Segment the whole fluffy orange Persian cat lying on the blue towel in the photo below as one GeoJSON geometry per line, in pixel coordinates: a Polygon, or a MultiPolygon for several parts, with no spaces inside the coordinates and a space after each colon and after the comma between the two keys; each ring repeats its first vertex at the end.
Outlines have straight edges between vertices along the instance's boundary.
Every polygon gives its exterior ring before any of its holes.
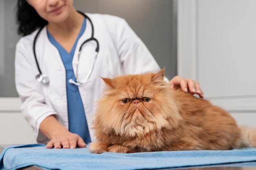
{"type": "Polygon", "coordinates": [[[158,73],[102,78],[92,153],[230,150],[256,147],[256,128],[238,127],[229,113],[164,81],[158,73]]]}

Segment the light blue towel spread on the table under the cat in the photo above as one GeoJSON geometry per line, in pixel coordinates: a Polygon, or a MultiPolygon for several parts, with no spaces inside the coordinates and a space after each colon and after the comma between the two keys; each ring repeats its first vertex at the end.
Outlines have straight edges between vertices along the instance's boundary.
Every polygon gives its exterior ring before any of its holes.
{"type": "Polygon", "coordinates": [[[43,144],[31,144],[5,148],[0,170],[31,165],[60,170],[142,170],[238,162],[256,166],[252,161],[256,161],[256,148],[92,154],[88,148],[46,149],[43,144]]]}

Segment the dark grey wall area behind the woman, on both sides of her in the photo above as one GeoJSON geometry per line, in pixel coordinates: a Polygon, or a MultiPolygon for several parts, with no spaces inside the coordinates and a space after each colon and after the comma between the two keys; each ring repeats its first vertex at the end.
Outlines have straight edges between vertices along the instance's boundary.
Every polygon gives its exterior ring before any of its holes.
{"type": "MultiPolygon", "coordinates": [[[[124,18],[146,44],[166,77],[177,74],[175,0],[74,0],[77,10],[124,18]],[[174,9],[174,10],[173,10],[174,9]]],[[[17,97],[14,84],[16,0],[0,0],[0,97],[17,97]]]]}

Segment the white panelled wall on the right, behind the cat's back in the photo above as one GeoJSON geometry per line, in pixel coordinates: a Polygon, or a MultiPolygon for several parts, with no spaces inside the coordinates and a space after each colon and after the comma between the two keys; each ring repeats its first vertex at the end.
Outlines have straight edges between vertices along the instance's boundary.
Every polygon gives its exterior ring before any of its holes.
{"type": "Polygon", "coordinates": [[[256,127],[256,1],[178,1],[178,74],[238,124],[256,127]]]}

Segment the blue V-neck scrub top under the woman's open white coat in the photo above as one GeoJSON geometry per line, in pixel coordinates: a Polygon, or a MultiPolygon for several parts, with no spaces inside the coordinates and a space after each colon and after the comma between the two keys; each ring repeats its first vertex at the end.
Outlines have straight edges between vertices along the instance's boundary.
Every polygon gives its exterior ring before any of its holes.
{"type": "Polygon", "coordinates": [[[67,112],[68,112],[68,123],[69,123],[69,131],[72,133],[76,133],[85,141],[85,144],[91,142],[90,134],[88,130],[88,125],[85,117],[85,111],[83,108],[82,99],[79,93],[78,86],[74,84],[70,84],[68,82],[69,79],[75,80],[75,75],[72,67],[72,60],[73,55],[76,49],[76,44],[85,31],[86,27],[86,20],[84,18],[83,25],[81,27],[80,33],[76,38],[76,42],[70,53],[68,53],[54,38],[53,36],[47,31],[48,38],[50,42],[56,46],[58,49],[63,64],[66,69],[66,87],[67,87],[67,112]]]}

